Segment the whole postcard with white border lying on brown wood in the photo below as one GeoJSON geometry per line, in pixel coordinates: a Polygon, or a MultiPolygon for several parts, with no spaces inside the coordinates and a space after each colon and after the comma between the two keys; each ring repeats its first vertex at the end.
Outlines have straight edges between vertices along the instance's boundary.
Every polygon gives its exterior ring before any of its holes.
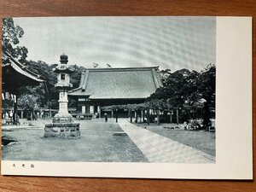
{"type": "Polygon", "coordinates": [[[3,175],[253,179],[252,18],[3,18],[3,175]]]}

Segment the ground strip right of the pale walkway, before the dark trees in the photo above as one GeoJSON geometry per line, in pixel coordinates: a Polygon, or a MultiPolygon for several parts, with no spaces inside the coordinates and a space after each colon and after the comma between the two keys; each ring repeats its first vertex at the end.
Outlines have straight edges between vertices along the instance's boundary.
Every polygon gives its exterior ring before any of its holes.
{"type": "Polygon", "coordinates": [[[200,149],[207,154],[216,156],[215,149],[215,133],[208,131],[186,131],[181,129],[165,129],[164,127],[175,127],[177,125],[161,124],[161,125],[147,125],[137,124],[143,128],[153,131],[161,136],[171,138],[174,141],[183,143],[192,148],[200,149]]]}

